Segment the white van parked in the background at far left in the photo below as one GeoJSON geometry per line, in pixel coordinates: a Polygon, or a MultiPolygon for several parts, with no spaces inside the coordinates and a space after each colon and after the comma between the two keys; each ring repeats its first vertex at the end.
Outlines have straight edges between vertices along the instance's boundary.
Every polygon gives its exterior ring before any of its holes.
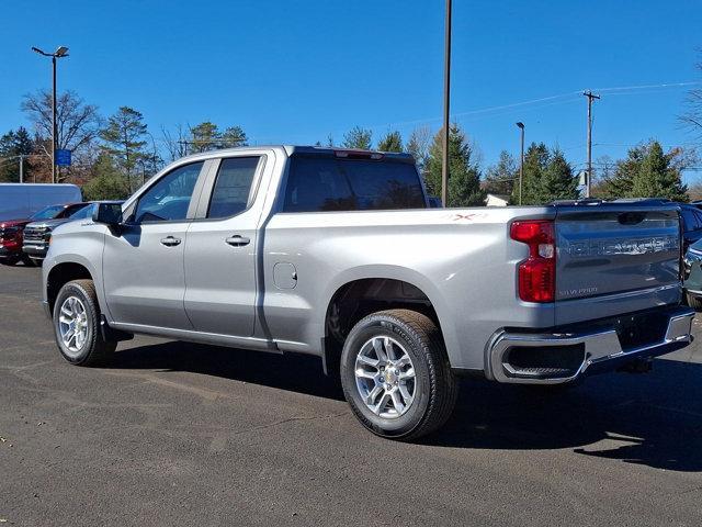
{"type": "Polygon", "coordinates": [[[75,184],[0,183],[0,221],[29,217],[46,205],[81,201],[75,184]]]}

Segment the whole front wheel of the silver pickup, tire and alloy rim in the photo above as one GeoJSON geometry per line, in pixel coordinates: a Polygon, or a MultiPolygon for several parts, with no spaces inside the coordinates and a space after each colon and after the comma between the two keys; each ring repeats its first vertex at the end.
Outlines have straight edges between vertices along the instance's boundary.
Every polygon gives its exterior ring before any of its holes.
{"type": "Polygon", "coordinates": [[[66,360],[78,366],[107,362],[117,343],[100,332],[100,306],[92,280],[73,280],[58,292],[54,304],[56,344],[66,360]]]}

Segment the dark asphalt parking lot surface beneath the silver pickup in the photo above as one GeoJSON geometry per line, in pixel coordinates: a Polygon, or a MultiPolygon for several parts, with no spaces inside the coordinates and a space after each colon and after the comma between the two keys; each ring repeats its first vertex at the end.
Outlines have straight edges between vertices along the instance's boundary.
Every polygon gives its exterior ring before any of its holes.
{"type": "Polygon", "coordinates": [[[71,367],[38,281],[0,267],[8,525],[702,523],[699,344],[563,393],[464,380],[442,431],[398,444],[308,357],[138,337],[71,367]]]}

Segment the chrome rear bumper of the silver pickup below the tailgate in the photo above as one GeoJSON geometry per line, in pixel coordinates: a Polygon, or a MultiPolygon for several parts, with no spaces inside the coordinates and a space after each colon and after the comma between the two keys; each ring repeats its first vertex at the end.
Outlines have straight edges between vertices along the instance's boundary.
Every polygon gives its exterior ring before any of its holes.
{"type": "Polygon", "coordinates": [[[694,311],[676,306],[659,316],[667,318],[663,321],[666,323],[661,325],[660,334],[650,341],[634,346],[622,345],[621,329],[618,333],[614,321],[610,327],[600,322],[592,332],[521,333],[502,329],[487,346],[486,375],[503,383],[561,384],[637,358],[669,354],[692,341],[690,330],[694,311]],[[521,358],[516,361],[514,356],[521,358]],[[533,363],[529,365],[529,360],[533,363]],[[555,363],[559,360],[561,363],[555,363]]]}

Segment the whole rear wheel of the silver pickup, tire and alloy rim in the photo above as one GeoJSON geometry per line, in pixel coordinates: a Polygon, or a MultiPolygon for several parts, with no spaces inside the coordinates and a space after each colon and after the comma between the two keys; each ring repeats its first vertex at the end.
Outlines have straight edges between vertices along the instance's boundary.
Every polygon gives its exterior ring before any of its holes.
{"type": "Polygon", "coordinates": [[[373,313],[351,329],[341,354],[341,384],[363,426],[401,440],[440,428],[458,393],[441,333],[409,310],[373,313]]]}

